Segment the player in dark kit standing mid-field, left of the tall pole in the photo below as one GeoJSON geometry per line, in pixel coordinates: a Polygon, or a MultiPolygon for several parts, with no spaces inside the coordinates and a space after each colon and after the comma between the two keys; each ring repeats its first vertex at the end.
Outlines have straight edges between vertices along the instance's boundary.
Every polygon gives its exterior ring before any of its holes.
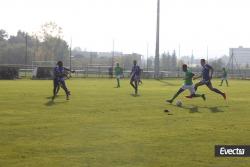
{"type": "Polygon", "coordinates": [[[137,65],[136,60],[134,60],[134,66],[132,67],[131,73],[130,73],[130,85],[134,88],[135,90],[135,95],[138,93],[138,84],[141,75],[141,69],[140,66],[137,65]]]}

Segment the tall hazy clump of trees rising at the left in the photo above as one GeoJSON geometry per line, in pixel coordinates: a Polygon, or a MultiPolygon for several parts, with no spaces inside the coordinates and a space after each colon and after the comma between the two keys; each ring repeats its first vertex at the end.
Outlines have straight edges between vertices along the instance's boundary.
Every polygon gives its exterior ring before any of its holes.
{"type": "Polygon", "coordinates": [[[53,22],[45,23],[35,34],[18,30],[16,35],[0,30],[0,64],[32,65],[35,61],[69,62],[69,46],[62,30],[53,22]]]}

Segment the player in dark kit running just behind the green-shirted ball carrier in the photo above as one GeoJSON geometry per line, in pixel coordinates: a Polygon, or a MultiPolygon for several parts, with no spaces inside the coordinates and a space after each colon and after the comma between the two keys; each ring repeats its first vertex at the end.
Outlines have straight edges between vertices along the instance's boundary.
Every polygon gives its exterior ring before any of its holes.
{"type": "Polygon", "coordinates": [[[221,92],[220,90],[214,88],[213,85],[212,85],[211,79],[213,77],[213,72],[214,72],[213,67],[210,66],[209,64],[206,64],[205,59],[201,59],[201,66],[202,66],[202,74],[200,76],[198,76],[198,77],[194,77],[194,79],[202,77],[202,80],[195,84],[195,87],[194,87],[195,91],[197,90],[197,88],[199,86],[207,85],[207,87],[211,91],[220,94],[226,100],[226,94],[221,92]]]}

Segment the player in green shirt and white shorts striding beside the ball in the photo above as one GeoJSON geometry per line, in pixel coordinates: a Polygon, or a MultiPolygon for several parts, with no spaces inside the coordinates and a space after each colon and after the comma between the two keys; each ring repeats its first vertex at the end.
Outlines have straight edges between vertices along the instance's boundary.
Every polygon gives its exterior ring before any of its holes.
{"type": "Polygon", "coordinates": [[[193,77],[194,74],[188,69],[186,64],[182,65],[182,70],[185,73],[184,77],[184,85],[178,90],[178,92],[172,97],[170,100],[166,100],[169,103],[173,103],[174,99],[178,97],[182,92],[184,92],[186,89],[190,91],[190,96],[186,96],[188,98],[193,98],[193,97],[201,97],[204,101],[206,100],[205,94],[195,94],[195,89],[193,85],[193,77]]]}

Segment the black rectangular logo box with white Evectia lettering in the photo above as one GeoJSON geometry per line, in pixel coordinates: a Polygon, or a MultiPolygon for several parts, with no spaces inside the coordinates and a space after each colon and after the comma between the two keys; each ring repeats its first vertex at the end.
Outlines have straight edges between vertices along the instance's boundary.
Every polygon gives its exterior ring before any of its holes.
{"type": "Polygon", "coordinates": [[[216,157],[249,157],[250,146],[237,145],[216,145],[216,157]]]}

